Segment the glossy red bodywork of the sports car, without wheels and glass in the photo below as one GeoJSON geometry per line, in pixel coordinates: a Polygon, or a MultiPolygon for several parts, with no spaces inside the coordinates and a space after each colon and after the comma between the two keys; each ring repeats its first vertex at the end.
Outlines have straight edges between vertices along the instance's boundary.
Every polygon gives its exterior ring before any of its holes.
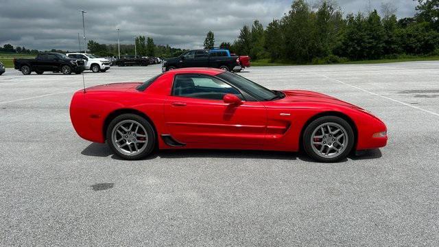
{"type": "Polygon", "coordinates": [[[171,95],[174,75],[202,73],[217,75],[219,69],[176,69],[163,73],[145,89],[141,82],[93,86],[73,95],[70,115],[76,132],[88,141],[105,142],[108,120],[119,113],[138,113],[149,119],[161,149],[215,148],[297,151],[300,137],[311,119],[340,115],[354,126],[356,150],[380,148],[387,136],[385,124],[352,104],[311,91],[283,91],[286,97],[269,102],[242,102],[236,106],[221,100],[171,95]],[[167,145],[161,134],[186,145],[167,145]]]}

